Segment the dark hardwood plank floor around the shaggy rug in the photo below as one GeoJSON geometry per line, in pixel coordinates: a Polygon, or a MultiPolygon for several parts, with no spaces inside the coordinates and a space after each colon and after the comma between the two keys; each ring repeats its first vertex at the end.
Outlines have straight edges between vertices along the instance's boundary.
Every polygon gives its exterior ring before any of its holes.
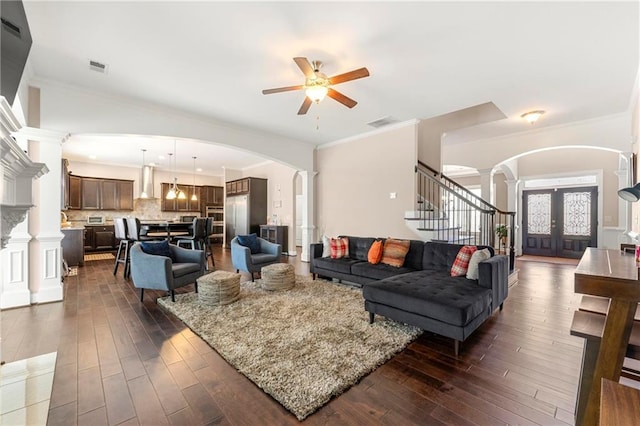
{"type": "MultiPolygon", "coordinates": [[[[233,270],[217,249],[218,269],[233,270]]],[[[289,258],[298,274],[308,264],[289,258]]],[[[575,266],[517,262],[504,310],[461,345],[423,334],[308,424],[573,424],[582,340],[575,266]]],[[[113,261],[65,279],[65,300],[2,311],[5,361],[58,351],[50,425],[295,424],[180,320],[144,303],[113,261]]],[[[244,275],[248,279],[248,275],[244,275]]],[[[193,291],[192,286],[185,291],[193,291]]],[[[364,311],[363,311],[364,315],[364,311]]]]}

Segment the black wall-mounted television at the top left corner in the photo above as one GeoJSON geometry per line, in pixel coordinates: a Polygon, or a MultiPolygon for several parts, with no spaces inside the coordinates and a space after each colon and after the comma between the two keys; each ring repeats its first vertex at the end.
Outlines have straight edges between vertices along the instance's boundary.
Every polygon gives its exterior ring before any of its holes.
{"type": "Polygon", "coordinates": [[[0,18],[0,95],[13,105],[31,49],[31,32],[22,1],[0,1],[0,18]]]}

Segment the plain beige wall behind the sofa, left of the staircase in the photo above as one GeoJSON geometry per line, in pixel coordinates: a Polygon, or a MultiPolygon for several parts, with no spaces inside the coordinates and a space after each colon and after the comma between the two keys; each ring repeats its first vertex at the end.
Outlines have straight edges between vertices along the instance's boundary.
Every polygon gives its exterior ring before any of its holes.
{"type": "Polygon", "coordinates": [[[415,208],[416,133],[411,124],[318,150],[319,235],[415,238],[404,215],[415,208]]]}

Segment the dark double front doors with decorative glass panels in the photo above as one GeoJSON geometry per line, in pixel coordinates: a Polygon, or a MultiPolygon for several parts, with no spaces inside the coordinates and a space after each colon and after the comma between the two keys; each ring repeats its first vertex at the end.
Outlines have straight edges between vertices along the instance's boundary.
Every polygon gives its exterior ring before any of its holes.
{"type": "Polygon", "coordinates": [[[598,245],[598,188],[523,191],[522,252],[579,259],[598,245]]]}

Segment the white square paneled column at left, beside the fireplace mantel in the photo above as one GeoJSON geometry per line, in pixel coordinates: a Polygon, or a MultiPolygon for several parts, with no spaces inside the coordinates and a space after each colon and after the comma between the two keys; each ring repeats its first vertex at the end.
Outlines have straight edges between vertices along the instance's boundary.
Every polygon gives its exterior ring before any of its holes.
{"type": "Polygon", "coordinates": [[[46,164],[50,173],[34,183],[35,207],[29,218],[29,290],[31,303],[60,301],[62,288],[62,249],[60,242],[60,200],[62,197],[62,143],[67,133],[24,127],[14,134],[28,141],[29,155],[46,164]]]}

